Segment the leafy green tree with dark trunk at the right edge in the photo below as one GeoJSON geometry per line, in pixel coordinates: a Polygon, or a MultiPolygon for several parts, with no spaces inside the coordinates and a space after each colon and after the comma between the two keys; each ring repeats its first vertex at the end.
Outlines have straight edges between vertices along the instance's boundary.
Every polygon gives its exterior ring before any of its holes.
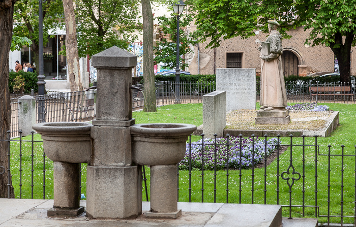
{"type": "Polygon", "coordinates": [[[356,44],[356,1],[295,1],[298,22],[310,29],[307,43],[330,47],[338,59],[341,82],[350,82],[351,47],[356,44]]]}

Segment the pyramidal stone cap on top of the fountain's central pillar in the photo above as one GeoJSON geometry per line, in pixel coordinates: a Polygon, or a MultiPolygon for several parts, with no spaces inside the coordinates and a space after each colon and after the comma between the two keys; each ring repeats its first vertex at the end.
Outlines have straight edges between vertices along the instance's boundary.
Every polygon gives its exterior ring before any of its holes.
{"type": "Polygon", "coordinates": [[[136,64],[136,55],[116,46],[92,56],[92,66],[94,68],[131,68],[136,64]]]}

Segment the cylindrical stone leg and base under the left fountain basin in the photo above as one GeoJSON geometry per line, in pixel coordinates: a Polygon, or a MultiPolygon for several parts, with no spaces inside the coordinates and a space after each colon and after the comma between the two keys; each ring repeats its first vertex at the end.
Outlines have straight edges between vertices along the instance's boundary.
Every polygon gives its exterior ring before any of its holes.
{"type": "Polygon", "coordinates": [[[80,163],[53,162],[53,209],[48,216],[77,216],[84,212],[80,201],[80,163]]]}

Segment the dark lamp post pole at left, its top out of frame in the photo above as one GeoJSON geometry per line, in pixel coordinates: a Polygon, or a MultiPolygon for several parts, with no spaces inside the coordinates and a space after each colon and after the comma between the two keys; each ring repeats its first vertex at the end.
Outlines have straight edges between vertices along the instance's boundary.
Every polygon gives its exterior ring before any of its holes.
{"type": "MultiPolygon", "coordinates": [[[[43,73],[43,15],[42,15],[42,3],[43,0],[39,0],[38,6],[38,94],[45,94],[45,76],[43,73]]],[[[44,107],[44,98],[40,96],[38,104],[38,117],[39,122],[45,122],[45,107],[44,107]],[[43,100],[43,101],[42,101],[43,100]]]]}

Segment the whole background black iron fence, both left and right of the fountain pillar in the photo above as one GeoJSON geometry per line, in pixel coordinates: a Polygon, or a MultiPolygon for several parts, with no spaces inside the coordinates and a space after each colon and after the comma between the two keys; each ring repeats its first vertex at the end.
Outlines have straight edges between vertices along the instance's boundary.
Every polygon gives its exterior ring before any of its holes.
{"type": "MultiPolygon", "coordinates": [[[[135,85],[143,89],[143,84],[135,85]]],[[[201,83],[180,81],[181,103],[202,103],[204,94],[215,91],[215,82],[201,83]]],[[[297,81],[286,83],[287,100],[289,103],[347,103],[355,104],[356,82],[347,84],[318,83],[297,81]]],[[[155,82],[156,105],[176,103],[174,92],[175,81],[155,82]]],[[[256,82],[256,100],[259,101],[260,83],[256,82]]],[[[37,122],[52,121],[88,121],[95,118],[94,90],[77,92],[49,91],[46,95],[36,98],[37,122]]],[[[143,93],[132,91],[133,111],[144,107],[143,93]]],[[[18,99],[11,99],[12,121],[11,137],[18,136],[18,99]]]]}

